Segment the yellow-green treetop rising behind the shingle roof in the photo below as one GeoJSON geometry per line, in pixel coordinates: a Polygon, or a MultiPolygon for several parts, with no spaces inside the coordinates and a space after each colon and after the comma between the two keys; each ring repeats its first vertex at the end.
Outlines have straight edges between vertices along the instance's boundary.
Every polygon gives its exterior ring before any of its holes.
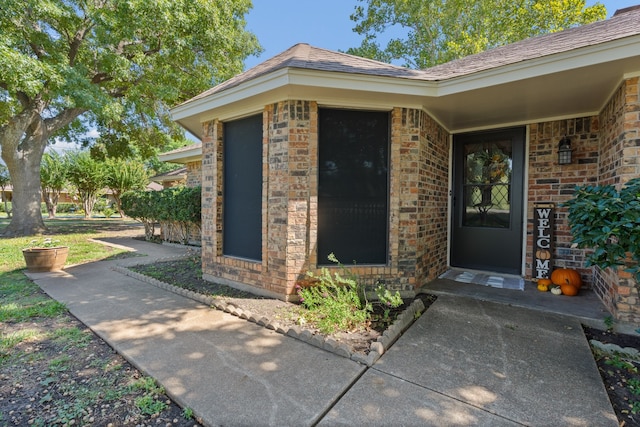
{"type": "Polygon", "coordinates": [[[433,65],[606,17],[585,0],[359,0],[351,19],[364,36],[348,53],[411,68],[433,65]],[[381,46],[385,30],[403,36],[381,46]]]}

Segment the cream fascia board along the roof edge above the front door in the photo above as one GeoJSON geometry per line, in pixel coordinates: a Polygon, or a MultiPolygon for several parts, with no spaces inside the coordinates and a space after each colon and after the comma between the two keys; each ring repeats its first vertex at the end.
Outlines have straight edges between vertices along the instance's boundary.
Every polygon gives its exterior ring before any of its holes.
{"type": "Polygon", "coordinates": [[[638,57],[640,36],[631,36],[560,54],[530,59],[478,73],[441,80],[437,96],[483,89],[543,75],[638,57]]]}

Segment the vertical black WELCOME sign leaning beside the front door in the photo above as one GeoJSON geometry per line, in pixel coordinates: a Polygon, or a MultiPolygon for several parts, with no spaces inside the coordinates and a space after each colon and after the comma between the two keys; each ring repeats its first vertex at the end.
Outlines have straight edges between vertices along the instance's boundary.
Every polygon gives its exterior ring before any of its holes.
{"type": "Polygon", "coordinates": [[[533,208],[533,277],[551,276],[553,254],[553,203],[537,204],[533,208]]]}

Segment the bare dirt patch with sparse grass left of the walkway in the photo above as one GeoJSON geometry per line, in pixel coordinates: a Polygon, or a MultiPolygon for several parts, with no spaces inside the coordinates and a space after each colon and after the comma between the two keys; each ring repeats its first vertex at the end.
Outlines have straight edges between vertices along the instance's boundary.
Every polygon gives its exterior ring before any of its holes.
{"type": "Polygon", "coordinates": [[[0,425],[198,425],[70,314],[0,329],[33,336],[0,352],[0,425]]]}

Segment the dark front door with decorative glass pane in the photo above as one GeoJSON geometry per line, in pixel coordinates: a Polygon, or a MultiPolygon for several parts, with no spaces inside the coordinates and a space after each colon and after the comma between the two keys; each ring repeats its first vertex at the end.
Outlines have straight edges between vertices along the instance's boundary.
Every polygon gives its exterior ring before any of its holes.
{"type": "Polygon", "coordinates": [[[453,139],[451,265],[520,274],[524,128],[453,139]]]}

